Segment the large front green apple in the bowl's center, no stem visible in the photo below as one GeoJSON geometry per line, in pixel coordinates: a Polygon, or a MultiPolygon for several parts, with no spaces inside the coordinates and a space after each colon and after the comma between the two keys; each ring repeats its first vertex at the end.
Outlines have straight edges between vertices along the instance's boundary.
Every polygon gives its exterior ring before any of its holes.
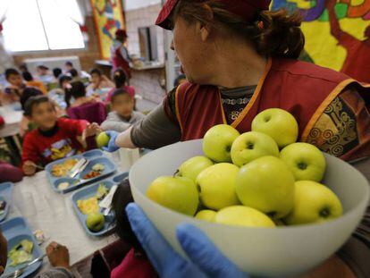
{"type": "Polygon", "coordinates": [[[240,168],[236,192],[244,206],[279,219],[293,208],[294,176],[281,159],[260,157],[240,168]]]}

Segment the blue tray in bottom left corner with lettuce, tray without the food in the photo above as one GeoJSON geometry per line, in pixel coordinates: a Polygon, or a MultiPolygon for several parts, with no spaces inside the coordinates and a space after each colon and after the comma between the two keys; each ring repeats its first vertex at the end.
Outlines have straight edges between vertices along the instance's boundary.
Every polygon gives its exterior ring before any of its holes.
{"type": "MultiPolygon", "coordinates": [[[[34,235],[29,229],[28,223],[23,217],[15,217],[5,221],[4,223],[0,223],[0,229],[3,231],[5,239],[8,240],[8,252],[13,249],[13,247],[21,240],[31,240],[33,242],[32,259],[41,257],[43,255],[42,250],[38,246],[38,241],[35,239],[34,235]]],[[[26,265],[27,263],[10,266],[10,261],[8,261],[8,265],[5,267],[4,276],[12,274],[14,271],[26,265]]],[[[23,278],[33,274],[41,265],[42,261],[30,265],[20,277],[23,278]]]]}

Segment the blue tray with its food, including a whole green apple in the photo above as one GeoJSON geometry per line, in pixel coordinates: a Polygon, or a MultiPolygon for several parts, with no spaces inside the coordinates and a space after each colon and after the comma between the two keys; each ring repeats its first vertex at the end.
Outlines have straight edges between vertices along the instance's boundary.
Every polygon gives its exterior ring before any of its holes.
{"type": "Polygon", "coordinates": [[[110,201],[117,184],[128,176],[129,173],[121,173],[111,179],[98,181],[71,196],[73,209],[88,235],[102,236],[114,230],[110,201]]]}

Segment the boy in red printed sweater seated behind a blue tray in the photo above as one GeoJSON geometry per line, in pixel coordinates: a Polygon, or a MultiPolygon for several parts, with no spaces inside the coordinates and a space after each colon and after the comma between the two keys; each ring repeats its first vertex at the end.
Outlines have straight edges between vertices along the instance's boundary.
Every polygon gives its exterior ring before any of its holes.
{"type": "Polygon", "coordinates": [[[26,175],[36,173],[38,165],[96,147],[88,122],[58,119],[54,102],[46,96],[30,97],[24,114],[38,127],[23,140],[22,169],[26,175]]]}

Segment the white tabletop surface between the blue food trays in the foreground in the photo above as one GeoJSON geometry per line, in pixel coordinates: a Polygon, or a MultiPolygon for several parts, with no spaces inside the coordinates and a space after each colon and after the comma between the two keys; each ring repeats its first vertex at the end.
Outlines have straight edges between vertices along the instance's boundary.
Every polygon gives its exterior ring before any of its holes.
{"type": "MultiPolygon", "coordinates": [[[[122,165],[117,158],[113,159],[117,164],[117,173],[126,172],[128,164],[122,165]]],[[[25,177],[13,187],[13,206],[7,217],[22,215],[32,231],[42,230],[46,238],[50,237],[41,246],[42,249],[53,240],[65,245],[70,250],[71,265],[117,240],[114,235],[96,238],[86,234],[71,206],[74,192],[56,193],[47,181],[45,171],[25,177]]],[[[49,267],[46,258],[40,272],[49,267]]]]}

